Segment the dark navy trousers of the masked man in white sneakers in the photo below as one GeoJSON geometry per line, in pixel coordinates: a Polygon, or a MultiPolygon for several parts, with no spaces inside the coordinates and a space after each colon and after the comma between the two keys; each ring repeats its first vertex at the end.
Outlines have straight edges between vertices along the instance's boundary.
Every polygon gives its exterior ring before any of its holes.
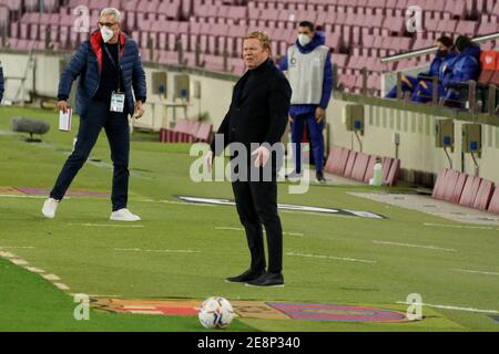
{"type": "Polygon", "coordinates": [[[68,157],[50,197],[61,200],[73,178],[89,158],[99,133],[104,128],[111,147],[113,162],[113,187],[111,201],[113,211],[126,208],[129,196],[130,128],[128,113],[109,111],[108,103],[92,101],[88,112],[80,118],[78,140],[73,153],[68,157]]]}

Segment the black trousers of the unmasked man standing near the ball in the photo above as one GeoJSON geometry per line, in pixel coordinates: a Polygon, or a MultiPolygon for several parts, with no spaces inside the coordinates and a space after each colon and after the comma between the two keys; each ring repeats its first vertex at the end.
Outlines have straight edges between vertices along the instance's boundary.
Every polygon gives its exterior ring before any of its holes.
{"type": "Polygon", "coordinates": [[[237,214],[246,231],[252,256],[251,269],[265,270],[263,228],[267,235],[268,272],[283,269],[283,229],[277,215],[276,181],[233,181],[237,214]]]}

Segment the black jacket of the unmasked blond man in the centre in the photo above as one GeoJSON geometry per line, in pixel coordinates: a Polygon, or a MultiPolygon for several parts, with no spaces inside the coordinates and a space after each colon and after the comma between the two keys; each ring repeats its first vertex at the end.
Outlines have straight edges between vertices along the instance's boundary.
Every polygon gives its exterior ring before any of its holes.
{"type": "Polygon", "coordinates": [[[220,155],[230,143],[243,143],[249,148],[251,143],[272,146],[281,142],[287,125],[291,97],[287,79],[272,60],[248,70],[237,81],[231,107],[217,132],[224,137],[224,146],[215,146],[213,139],[211,149],[220,155]],[[246,85],[248,75],[254,77],[246,85]]]}

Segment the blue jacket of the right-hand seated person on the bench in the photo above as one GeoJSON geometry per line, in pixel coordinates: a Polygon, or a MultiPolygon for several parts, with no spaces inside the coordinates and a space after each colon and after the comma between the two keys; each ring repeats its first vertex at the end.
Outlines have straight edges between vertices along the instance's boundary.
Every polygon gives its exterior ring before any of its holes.
{"type": "Polygon", "coordinates": [[[446,88],[451,88],[452,85],[469,80],[477,80],[480,75],[480,48],[478,45],[468,46],[456,58],[446,62],[442,74],[446,88]]]}

